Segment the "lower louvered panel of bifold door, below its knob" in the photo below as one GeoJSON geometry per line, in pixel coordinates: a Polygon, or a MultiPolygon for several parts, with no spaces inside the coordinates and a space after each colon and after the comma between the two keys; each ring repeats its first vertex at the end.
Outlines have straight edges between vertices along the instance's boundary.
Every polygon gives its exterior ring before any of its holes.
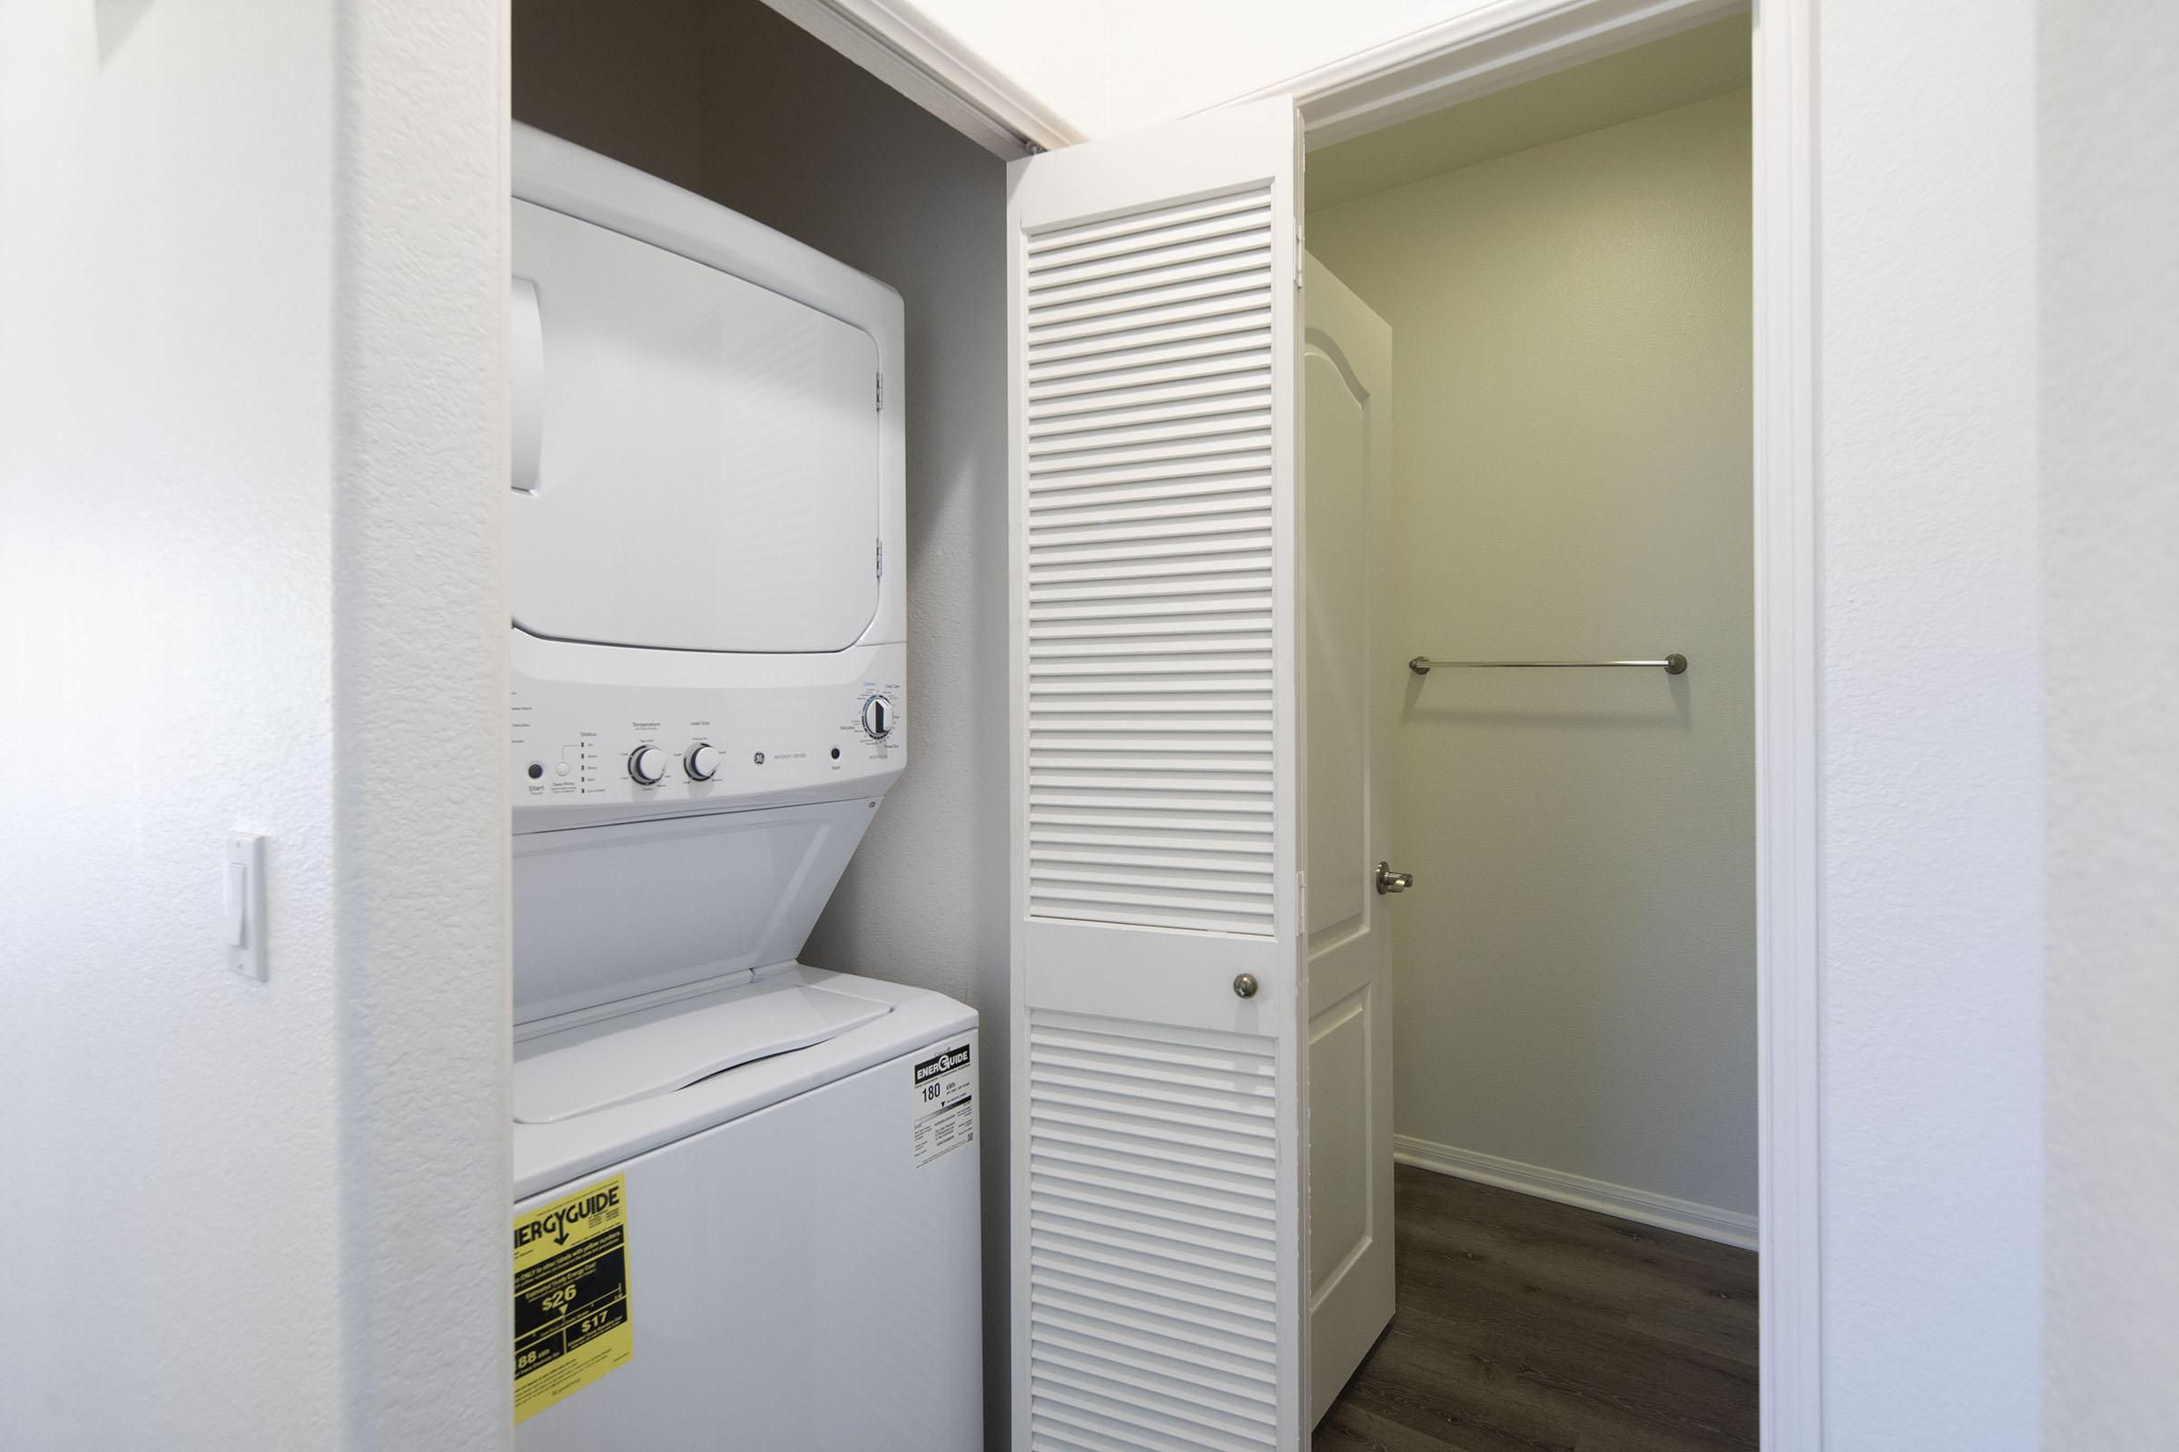
{"type": "Polygon", "coordinates": [[[1028,1014],[1031,1448],[1277,1445],[1277,1047],[1028,1014]]]}

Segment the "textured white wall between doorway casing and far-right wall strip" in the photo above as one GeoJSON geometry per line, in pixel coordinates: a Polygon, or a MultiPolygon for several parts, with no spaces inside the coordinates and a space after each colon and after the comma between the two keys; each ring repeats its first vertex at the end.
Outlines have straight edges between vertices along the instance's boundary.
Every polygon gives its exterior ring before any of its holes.
{"type": "Polygon", "coordinates": [[[1826,0],[1826,1445],[2037,1443],[2035,4],[1826,0]]]}

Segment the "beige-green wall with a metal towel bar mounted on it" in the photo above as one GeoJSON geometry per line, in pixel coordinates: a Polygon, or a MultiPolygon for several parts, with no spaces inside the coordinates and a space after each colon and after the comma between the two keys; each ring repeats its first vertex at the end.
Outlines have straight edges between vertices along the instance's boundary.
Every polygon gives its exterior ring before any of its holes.
{"type": "Polygon", "coordinates": [[[1756,1206],[1750,122],[1734,91],[1310,216],[1390,324],[1408,1147],[1756,1206]]]}

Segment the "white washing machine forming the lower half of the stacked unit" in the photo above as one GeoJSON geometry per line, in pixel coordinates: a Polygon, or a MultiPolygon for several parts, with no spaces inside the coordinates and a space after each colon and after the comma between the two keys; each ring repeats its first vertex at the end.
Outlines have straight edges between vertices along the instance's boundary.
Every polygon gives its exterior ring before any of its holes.
{"type": "MultiPolygon", "coordinates": [[[[514,1112],[564,1115],[516,1128],[516,1223],[619,1176],[632,1334],[625,1365],[525,1419],[516,1445],[981,1445],[974,1102],[959,1102],[983,1069],[976,1014],[804,967],[652,1012],[665,1017],[649,1045],[606,1021],[516,1049],[514,1112]],[[815,1047],[625,1097],[706,1054],[843,1023],[815,1047]],[[926,1097],[933,1084],[946,1093],[926,1097]]],[[[519,1350],[567,1334],[532,1317],[519,1350]]]]}

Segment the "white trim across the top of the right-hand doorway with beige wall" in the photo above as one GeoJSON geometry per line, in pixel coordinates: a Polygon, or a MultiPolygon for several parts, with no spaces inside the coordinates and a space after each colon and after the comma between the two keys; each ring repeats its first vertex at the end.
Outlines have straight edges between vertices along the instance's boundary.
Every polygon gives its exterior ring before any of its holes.
{"type": "Polygon", "coordinates": [[[1331,146],[1745,9],[1748,0],[1497,0],[1220,104],[1292,96],[1310,146],[1331,146]]]}

